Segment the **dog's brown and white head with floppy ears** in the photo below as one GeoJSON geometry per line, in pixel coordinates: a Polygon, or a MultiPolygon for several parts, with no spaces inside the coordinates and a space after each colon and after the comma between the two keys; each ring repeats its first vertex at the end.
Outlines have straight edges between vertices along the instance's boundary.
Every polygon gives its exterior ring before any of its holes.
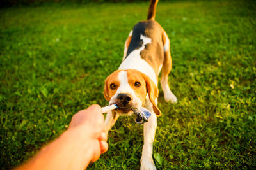
{"type": "Polygon", "coordinates": [[[149,96],[156,115],[161,115],[155,101],[158,89],[150,78],[135,69],[117,70],[105,80],[104,97],[109,104],[117,104],[116,113],[132,115],[132,108],[140,108],[149,96]]]}

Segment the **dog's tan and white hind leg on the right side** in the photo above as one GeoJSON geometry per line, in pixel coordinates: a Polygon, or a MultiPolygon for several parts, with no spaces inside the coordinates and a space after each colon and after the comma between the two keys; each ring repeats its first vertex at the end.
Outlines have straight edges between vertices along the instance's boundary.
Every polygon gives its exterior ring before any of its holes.
{"type": "Polygon", "coordinates": [[[177,103],[177,97],[171,92],[168,85],[168,75],[172,70],[172,57],[170,52],[170,40],[165,31],[163,31],[163,44],[164,44],[164,62],[161,76],[161,87],[164,92],[164,99],[171,103],[177,103]]]}

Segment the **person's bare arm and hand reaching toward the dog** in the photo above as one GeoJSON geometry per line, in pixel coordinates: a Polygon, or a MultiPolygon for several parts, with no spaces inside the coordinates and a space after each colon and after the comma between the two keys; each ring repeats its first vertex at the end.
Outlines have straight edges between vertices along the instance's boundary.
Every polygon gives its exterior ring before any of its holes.
{"type": "Polygon", "coordinates": [[[67,131],[17,169],[86,169],[108,150],[104,116],[95,104],[76,113],[67,131]]]}

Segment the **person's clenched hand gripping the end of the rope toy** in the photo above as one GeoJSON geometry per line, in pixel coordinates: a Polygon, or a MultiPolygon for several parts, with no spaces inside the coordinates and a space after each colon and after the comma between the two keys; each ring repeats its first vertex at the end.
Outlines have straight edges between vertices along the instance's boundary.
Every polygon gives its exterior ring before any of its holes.
{"type": "Polygon", "coordinates": [[[72,117],[68,130],[74,130],[77,135],[84,136],[84,142],[89,143],[93,152],[90,162],[95,162],[101,153],[108,150],[107,131],[99,105],[94,104],[76,113],[72,117]]]}

